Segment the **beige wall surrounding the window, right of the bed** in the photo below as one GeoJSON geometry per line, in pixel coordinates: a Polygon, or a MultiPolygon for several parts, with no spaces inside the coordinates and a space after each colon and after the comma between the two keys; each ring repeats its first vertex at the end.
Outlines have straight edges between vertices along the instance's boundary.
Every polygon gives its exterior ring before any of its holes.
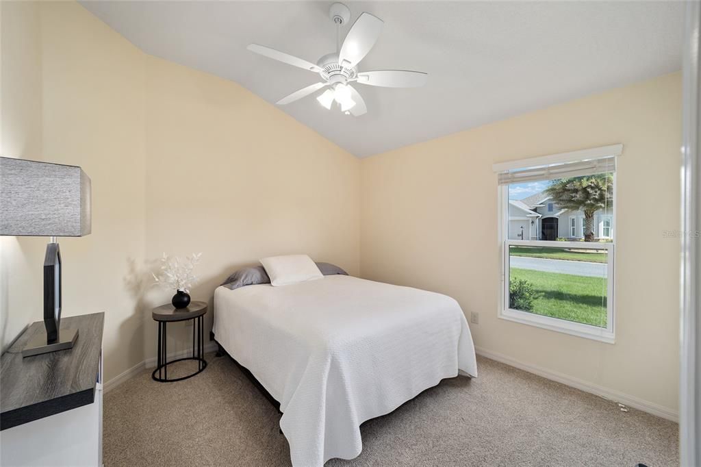
{"type": "Polygon", "coordinates": [[[676,412],[679,379],[681,75],[671,74],[364,159],[361,273],[444,292],[479,348],[676,412]],[[623,143],[618,165],[616,343],[497,318],[491,165],[623,143]]]}

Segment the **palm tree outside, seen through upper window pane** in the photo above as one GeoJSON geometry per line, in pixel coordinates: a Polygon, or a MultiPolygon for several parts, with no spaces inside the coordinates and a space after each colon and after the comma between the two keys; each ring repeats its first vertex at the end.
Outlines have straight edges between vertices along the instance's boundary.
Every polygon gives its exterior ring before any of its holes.
{"type": "Polygon", "coordinates": [[[560,208],[584,212],[584,241],[594,241],[594,212],[610,206],[613,201],[611,174],[554,180],[545,189],[553,203],[560,208]]]}

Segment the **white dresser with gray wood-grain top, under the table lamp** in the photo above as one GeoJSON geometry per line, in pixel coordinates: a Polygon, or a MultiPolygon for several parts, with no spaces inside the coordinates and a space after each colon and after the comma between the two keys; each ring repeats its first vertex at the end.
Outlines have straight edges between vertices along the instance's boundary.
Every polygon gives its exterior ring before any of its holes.
{"type": "Polygon", "coordinates": [[[2,466],[102,465],[103,321],[103,313],[63,318],[61,327],[79,327],[69,350],[22,358],[23,334],[3,354],[2,466]]]}

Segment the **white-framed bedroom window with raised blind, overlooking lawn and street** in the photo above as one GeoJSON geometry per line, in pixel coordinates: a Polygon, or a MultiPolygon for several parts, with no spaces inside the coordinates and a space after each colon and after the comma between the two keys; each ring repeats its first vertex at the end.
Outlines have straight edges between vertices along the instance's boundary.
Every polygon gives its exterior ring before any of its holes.
{"type": "Polygon", "coordinates": [[[613,344],[615,165],[621,151],[617,144],[494,165],[501,200],[499,318],[613,344]],[[582,200],[573,191],[592,195],[582,200]],[[510,218],[509,205],[536,211],[531,201],[546,197],[548,210],[557,205],[565,215],[541,216],[540,240],[512,236],[511,224],[520,221],[510,218]]]}

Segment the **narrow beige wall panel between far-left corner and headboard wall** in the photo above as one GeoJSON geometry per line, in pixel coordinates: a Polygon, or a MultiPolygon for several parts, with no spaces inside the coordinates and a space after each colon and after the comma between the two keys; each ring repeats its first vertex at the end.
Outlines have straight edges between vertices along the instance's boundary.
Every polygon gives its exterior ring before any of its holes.
{"type": "Polygon", "coordinates": [[[144,360],[130,261],[145,242],[146,56],[76,3],[41,4],[43,156],[93,182],[93,232],[60,238],[64,316],[104,311],[105,379],[144,360]]]}

